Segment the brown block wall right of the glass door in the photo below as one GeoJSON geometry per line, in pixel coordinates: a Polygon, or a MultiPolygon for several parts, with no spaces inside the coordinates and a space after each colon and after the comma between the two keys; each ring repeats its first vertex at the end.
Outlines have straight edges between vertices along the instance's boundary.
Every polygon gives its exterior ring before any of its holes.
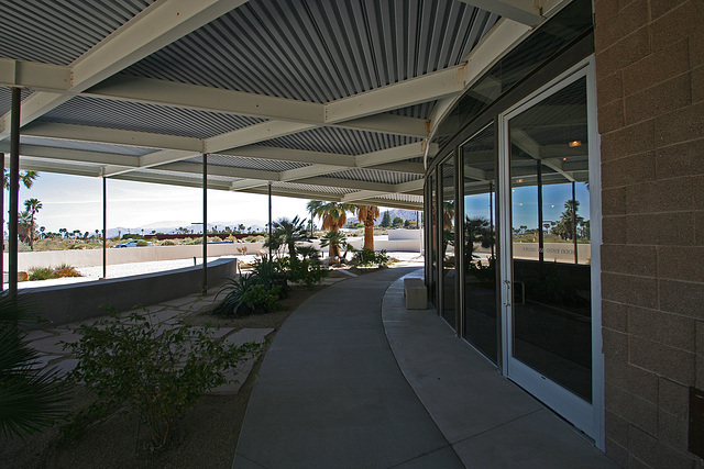
{"type": "Polygon", "coordinates": [[[606,453],[688,451],[704,389],[704,1],[596,0],[606,453]]]}

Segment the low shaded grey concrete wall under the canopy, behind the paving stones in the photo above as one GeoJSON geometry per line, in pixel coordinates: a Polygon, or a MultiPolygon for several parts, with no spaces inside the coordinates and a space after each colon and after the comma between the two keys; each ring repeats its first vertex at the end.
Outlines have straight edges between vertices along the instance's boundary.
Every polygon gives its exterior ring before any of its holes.
{"type": "MultiPolygon", "coordinates": [[[[208,283],[219,284],[235,275],[237,259],[208,263],[208,283]]],[[[202,267],[194,266],[158,273],[94,280],[54,287],[20,290],[31,303],[31,310],[53,324],[66,324],[105,315],[100,308],[109,304],[118,311],[129,311],[201,290],[202,267]]],[[[34,327],[46,326],[38,324],[34,327]]]]}

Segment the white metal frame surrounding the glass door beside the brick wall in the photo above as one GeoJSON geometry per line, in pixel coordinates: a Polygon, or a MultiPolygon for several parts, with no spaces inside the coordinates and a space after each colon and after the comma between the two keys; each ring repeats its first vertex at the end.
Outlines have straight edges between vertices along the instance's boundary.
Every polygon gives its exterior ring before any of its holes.
{"type": "Polygon", "coordinates": [[[604,356],[602,353],[602,294],[601,294],[601,156],[596,120],[596,77],[594,56],[571,67],[559,77],[539,88],[518,103],[498,115],[498,220],[502,236],[501,295],[502,295],[502,372],[519,383],[548,406],[594,438],[595,445],[604,450],[604,356]],[[510,143],[508,121],[544,98],[560,91],[574,81],[586,78],[586,112],[588,130],[590,161],[590,230],[591,230],[591,294],[592,294],[592,403],[576,397],[565,388],[541,376],[538,371],[512,359],[512,290],[513,290],[513,237],[510,198],[510,143]]]}

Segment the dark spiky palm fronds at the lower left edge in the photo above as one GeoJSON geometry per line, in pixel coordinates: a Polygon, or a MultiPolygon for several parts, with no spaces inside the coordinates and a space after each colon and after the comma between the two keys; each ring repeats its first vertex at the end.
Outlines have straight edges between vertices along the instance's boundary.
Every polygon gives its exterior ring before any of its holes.
{"type": "Polygon", "coordinates": [[[0,434],[4,436],[22,436],[52,425],[67,401],[67,388],[56,372],[33,366],[38,354],[20,327],[28,317],[16,297],[0,295],[0,434]]]}

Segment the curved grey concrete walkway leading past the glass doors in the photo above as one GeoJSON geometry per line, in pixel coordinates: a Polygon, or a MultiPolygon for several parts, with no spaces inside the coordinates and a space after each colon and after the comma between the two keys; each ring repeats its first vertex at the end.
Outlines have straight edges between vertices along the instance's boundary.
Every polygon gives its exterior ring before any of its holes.
{"type": "Polygon", "coordinates": [[[260,370],[233,468],[615,467],[433,311],[407,312],[398,279],[413,271],[349,279],[296,310],[260,370]]]}

